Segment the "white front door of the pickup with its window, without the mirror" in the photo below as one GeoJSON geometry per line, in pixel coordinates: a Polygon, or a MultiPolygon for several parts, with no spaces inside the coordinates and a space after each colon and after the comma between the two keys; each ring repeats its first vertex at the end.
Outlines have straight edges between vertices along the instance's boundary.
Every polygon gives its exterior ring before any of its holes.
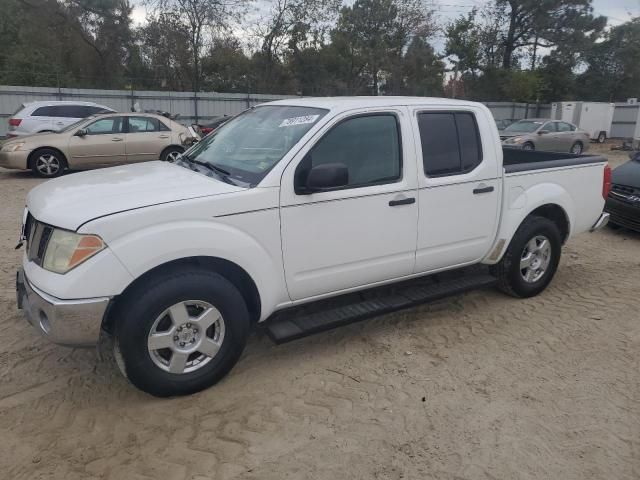
{"type": "Polygon", "coordinates": [[[281,235],[293,300],[413,272],[418,192],[411,132],[402,118],[400,109],[345,115],[285,170],[281,235]],[[347,185],[296,193],[311,168],[336,163],[347,167],[347,185]]]}

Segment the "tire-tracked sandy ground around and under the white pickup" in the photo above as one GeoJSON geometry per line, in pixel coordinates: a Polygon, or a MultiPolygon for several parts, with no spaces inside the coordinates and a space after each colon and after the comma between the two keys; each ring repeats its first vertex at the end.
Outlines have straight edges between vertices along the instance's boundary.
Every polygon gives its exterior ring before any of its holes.
{"type": "Polygon", "coordinates": [[[640,235],[573,239],[537,298],[477,291],[284,346],[256,333],[223,382],[159,400],[16,311],[38,182],[0,171],[0,478],[640,478],[640,235]]]}

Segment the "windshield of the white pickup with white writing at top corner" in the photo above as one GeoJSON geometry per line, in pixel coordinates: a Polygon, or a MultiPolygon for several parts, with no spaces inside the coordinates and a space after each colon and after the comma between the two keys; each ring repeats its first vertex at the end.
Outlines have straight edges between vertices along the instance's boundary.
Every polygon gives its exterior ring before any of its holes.
{"type": "Polygon", "coordinates": [[[254,186],[328,110],[310,107],[252,108],[185,152],[238,184],[254,186]]]}

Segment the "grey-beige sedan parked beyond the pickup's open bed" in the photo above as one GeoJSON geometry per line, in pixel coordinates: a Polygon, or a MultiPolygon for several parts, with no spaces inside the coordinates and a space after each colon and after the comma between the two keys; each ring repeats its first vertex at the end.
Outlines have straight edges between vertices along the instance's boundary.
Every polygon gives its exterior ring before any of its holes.
{"type": "Polygon", "coordinates": [[[559,120],[530,118],[518,120],[500,132],[505,147],[580,155],[589,148],[589,134],[559,120]]]}

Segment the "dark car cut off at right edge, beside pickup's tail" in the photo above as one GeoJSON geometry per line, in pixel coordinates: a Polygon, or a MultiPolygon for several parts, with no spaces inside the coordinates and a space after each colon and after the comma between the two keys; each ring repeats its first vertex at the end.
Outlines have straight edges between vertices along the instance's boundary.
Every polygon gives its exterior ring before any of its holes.
{"type": "Polygon", "coordinates": [[[640,232],[640,152],[629,157],[630,161],[612,173],[605,211],[611,215],[613,227],[640,232]]]}

